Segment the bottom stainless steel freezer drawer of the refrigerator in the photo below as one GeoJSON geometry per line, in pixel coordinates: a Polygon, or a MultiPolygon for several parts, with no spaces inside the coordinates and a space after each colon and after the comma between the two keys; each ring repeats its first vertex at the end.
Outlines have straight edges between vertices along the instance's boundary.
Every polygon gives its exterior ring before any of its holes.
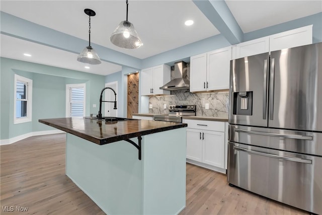
{"type": "Polygon", "coordinates": [[[322,214],[322,158],[229,142],[227,181],[322,214]]]}

